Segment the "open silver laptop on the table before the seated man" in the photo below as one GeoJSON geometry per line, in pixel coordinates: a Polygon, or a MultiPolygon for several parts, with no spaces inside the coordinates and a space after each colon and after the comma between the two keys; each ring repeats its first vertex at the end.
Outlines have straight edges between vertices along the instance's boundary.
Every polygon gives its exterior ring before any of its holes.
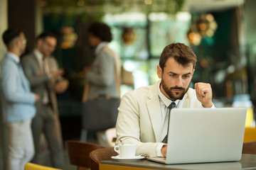
{"type": "Polygon", "coordinates": [[[233,162],[242,157],[246,108],[174,108],[171,110],[164,164],[233,162]]]}

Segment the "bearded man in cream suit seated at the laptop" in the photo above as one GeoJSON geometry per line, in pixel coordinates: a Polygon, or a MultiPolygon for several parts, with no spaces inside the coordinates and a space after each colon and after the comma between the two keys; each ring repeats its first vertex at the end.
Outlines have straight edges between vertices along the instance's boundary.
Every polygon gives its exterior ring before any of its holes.
{"type": "Polygon", "coordinates": [[[158,82],[124,94],[118,108],[117,145],[137,145],[136,155],[166,157],[171,108],[214,108],[210,84],[191,79],[196,55],[182,43],[167,45],[157,66],[158,82]]]}

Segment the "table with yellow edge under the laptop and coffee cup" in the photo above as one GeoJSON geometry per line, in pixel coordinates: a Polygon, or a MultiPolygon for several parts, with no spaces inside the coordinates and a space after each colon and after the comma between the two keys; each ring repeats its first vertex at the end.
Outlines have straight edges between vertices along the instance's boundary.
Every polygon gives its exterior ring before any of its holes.
{"type": "Polygon", "coordinates": [[[151,162],[146,159],[140,159],[138,162],[119,162],[117,160],[102,161],[100,164],[100,170],[146,170],[146,169],[255,169],[256,170],[256,154],[242,154],[240,162],[217,162],[217,163],[203,163],[203,164],[175,164],[166,165],[151,162]]]}

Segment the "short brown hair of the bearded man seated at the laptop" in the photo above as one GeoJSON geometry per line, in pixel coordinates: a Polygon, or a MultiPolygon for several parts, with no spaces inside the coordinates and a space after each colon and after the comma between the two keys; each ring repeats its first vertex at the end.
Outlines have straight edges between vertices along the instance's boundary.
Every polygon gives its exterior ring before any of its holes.
{"type": "Polygon", "coordinates": [[[159,60],[159,66],[161,67],[162,71],[164,71],[166,61],[170,57],[174,57],[174,60],[176,60],[176,62],[182,66],[192,63],[193,68],[196,67],[197,60],[195,53],[190,47],[184,45],[183,43],[171,43],[170,45],[164,47],[159,60]]]}

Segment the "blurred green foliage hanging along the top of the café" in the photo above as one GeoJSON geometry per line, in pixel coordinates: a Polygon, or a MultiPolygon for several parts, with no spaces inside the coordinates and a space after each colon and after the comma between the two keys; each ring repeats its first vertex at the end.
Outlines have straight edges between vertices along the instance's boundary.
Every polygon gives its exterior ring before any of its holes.
{"type": "Polygon", "coordinates": [[[84,21],[88,18],[100,21],[105,14],[125,12],[164,12],[175,15],[184,4],[184,0],[42,0],[45,13],[57,13],[66,16],[66,24],[72,25],[76,16],[84,21]]]}

